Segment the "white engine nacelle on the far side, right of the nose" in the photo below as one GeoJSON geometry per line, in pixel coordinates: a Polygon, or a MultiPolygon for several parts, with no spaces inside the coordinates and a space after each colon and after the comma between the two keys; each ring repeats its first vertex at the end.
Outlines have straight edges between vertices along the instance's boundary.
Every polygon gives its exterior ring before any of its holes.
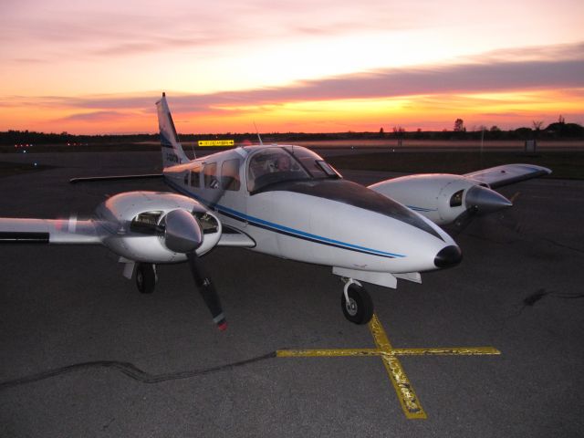
{"type": "Polygon", "coordinates": [[[402,176],[369,188],[406,205],[434,224],[443,225],[453,223],[464,213],[468,208],[468,192],[481,185],[485,186],[461,175],[427,173],[402,176]]]}

